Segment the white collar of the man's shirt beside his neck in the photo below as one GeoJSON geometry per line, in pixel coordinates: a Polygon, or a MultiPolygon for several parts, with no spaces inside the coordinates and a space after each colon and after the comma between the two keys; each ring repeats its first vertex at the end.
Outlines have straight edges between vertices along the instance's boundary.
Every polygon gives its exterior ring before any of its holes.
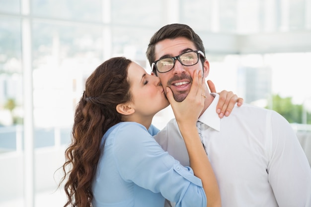
{"type": "Polygon", "coordinates": [[[216,106],[219,100],[219,94],[211,93],[211,95],[214,96],[214,100],[199,117],[199,121],[220,132],[220,118],[216,113],[216,106]]]}

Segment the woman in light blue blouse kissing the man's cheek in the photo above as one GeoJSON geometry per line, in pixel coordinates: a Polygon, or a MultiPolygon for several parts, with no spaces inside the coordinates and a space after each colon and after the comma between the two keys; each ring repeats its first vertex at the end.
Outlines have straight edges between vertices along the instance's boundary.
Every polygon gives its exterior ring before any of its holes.
{"type": "Polygon", "coordinates": [[[176,206],[220,206],[218,185],[195,127],[203,109],[204,80],[201,72],[193,77],[183,102],[175,102],[166,89],[190,168],[181,166],[152,137],[158,132],[151,124],[154,115],[169,105],[159,78],[121,57],[93,71],[66,150],[64,207],[161,207],[164,198],[176,206]],[[206,194],[214,200],[207,202],[206,194]]]}

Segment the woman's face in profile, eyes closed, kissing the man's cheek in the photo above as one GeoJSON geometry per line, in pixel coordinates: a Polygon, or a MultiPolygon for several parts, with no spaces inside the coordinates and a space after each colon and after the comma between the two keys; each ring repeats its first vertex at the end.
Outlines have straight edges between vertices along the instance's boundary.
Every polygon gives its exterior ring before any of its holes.
{"type": "Polygon", "coordinates": [[[145,69],[132,62],[128,68],[128,79],[135,113],[154,116],[169,105],[157,76],[148,74],[145,69]]]}

